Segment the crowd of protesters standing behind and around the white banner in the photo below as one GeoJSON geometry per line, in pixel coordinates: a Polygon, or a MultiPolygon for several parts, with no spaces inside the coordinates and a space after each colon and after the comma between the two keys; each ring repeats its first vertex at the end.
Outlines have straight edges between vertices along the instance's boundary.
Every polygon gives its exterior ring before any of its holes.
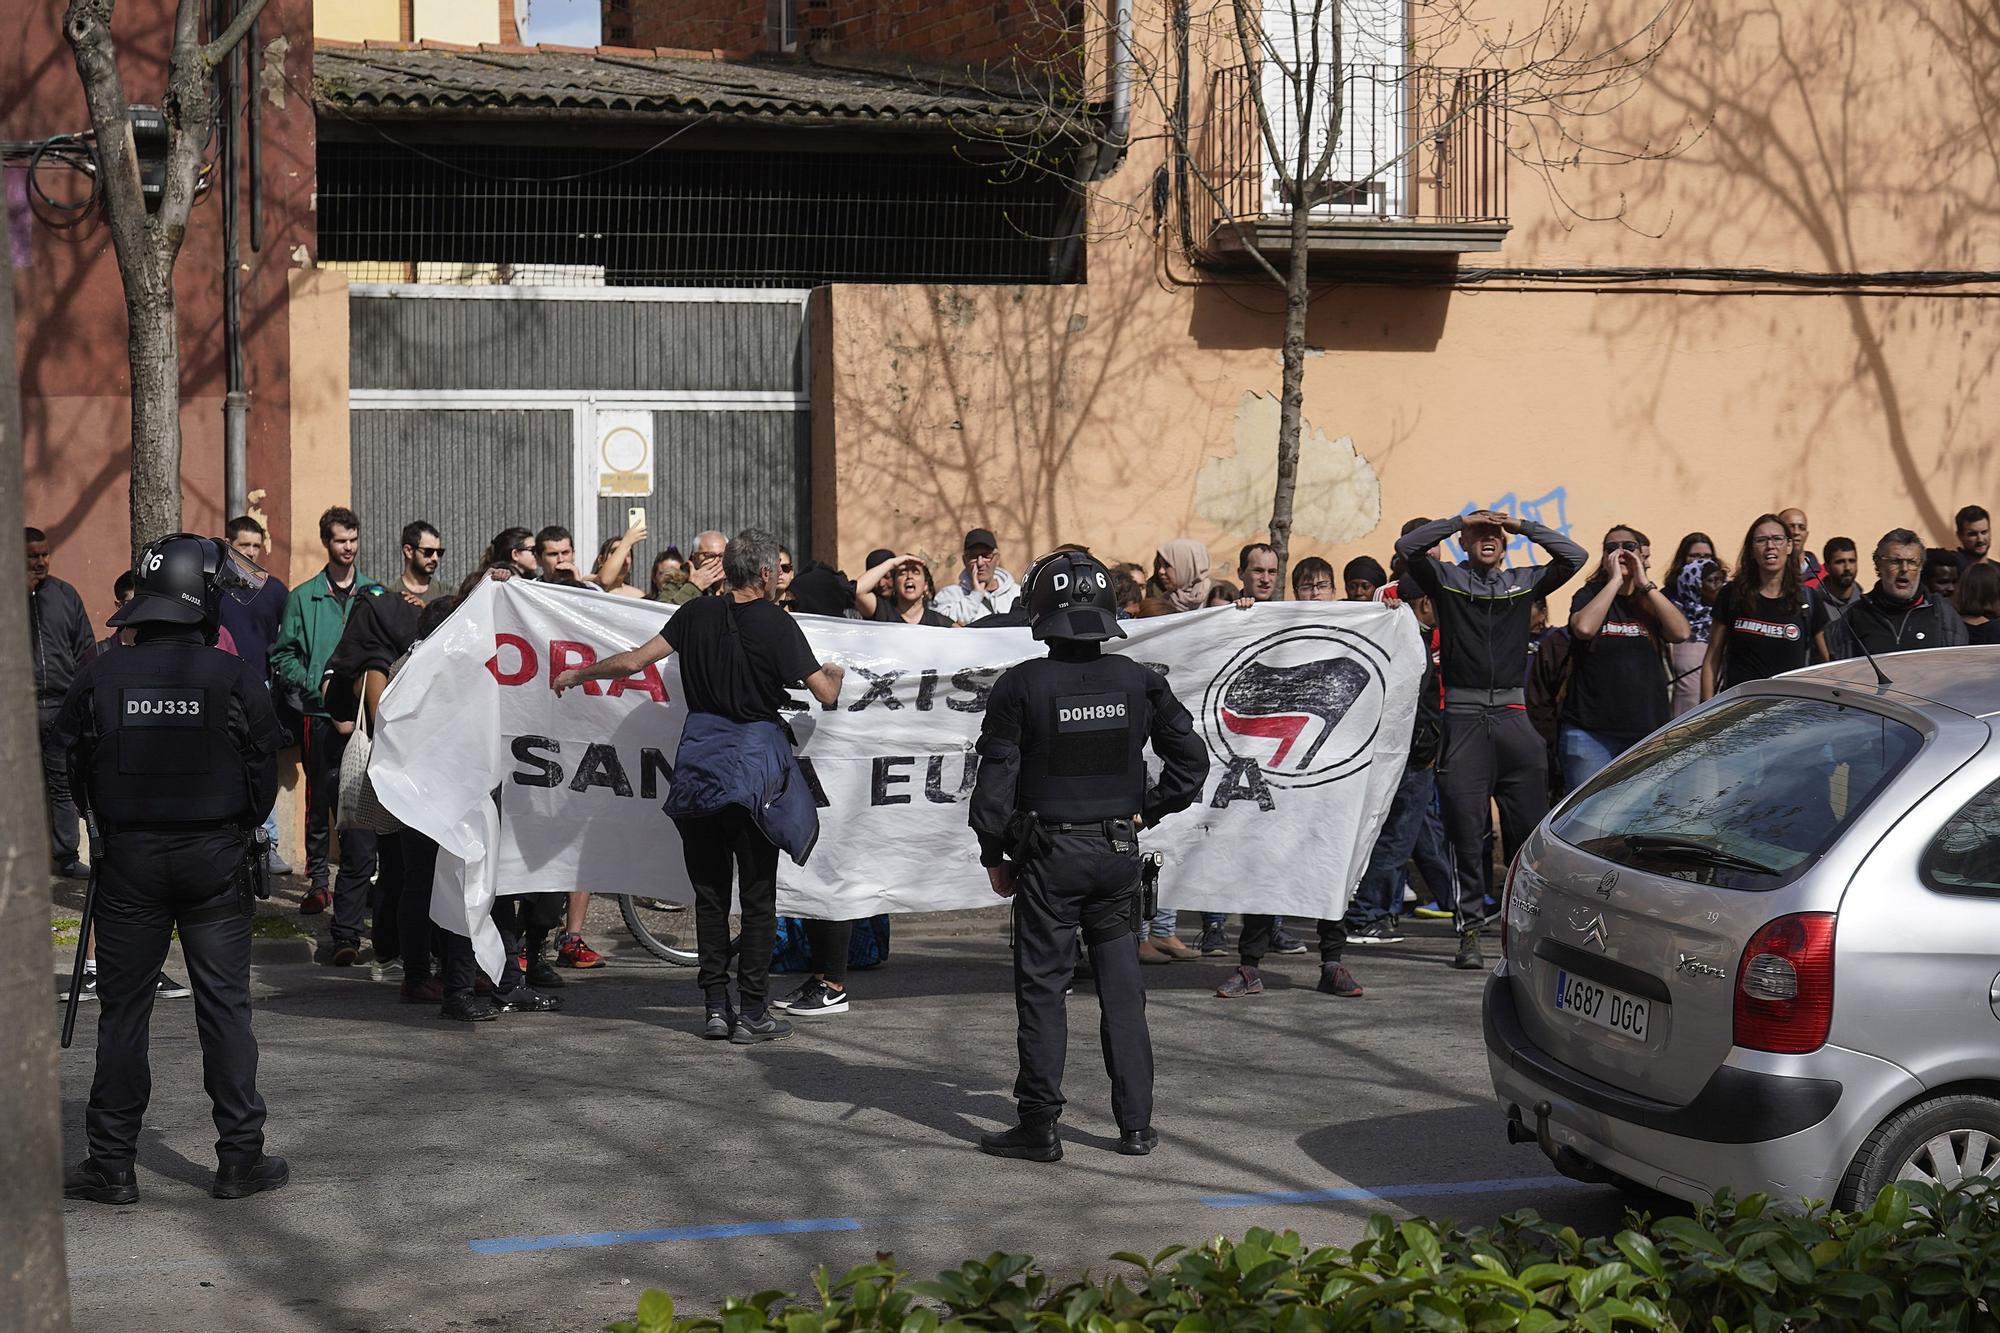
{"type": "MultiPolygon", "coordinates": [[[[750,729],[732,745],[770,741],[764,735],[776,717],[770,689],[804,687],[820,697],[838,689],[838,669],[812,660],[804,636],[780,612],[922,626],[1028,622],[1024,588],[988,528],[966,532],[960,568],[956,576],[946,570],[950,580],[942,588],[938,572],[918,554],[872,550],[862,572],[848,578],[818,560],[794,562],[776,538],[756,530],[734,540],[720,530],[698,532],[686,550],[670,544],[642,566],[638,548],[650,538],[644,522],[602,542],[588,572],[568,528],[510,526],[486,542],[454,584],[440,578],[444,534],[412,520],[400,532],[402,568],[382,582],[358,568],[360,534],[362,518],[352,508],[328,508],[318,520],[324,566],[296,588],[272,578],[252,602],[224,602],[220,646],[258,666],[298,739],[306,847],[298,911],[330,917],[320,959],[332,967],[372,961],[384,975],[400,977],[402,999],[440,1005],[440,1013],[462,1021],[560,1009],[554,991],[566,985],[562,973],[604,965],[582,933],[588,891],[502,895],[494,923],[508,957],[502,979],[488,983],[472,963],[470,941],[428,919],[436,845],[412,831],[370,833],[336,811],[342,755],[356,729],[370,725],[382,687],[480,578],[586,586],[672,608],[648,660],[680,650],[684,677],[692,671],[704,681],[700,691],[690,687],[690,697],[700,693],[708,701],[706,713],[720,719],[718,727],[750,729]],[[726,664],[688,646],[706,642],[724,610],[732,632],[756,638],[762,652],[756,660],[772,666],[762,693],[732,687],[726,664]]],[[[1344,963],[1346,945],[1396,943],[1404,917],[1450,921],[1458,937],[1452,965],[1482,969],[1480,931],[1494,915],[1496,857],[1500,865],[1512,859],[1554,799],[1588,783],[1670,717],[1734,685],[1814,660],[2000,642],[2000,564],[1990,558],[1990,514],[1978,504],[1960,508],[1952,536],[1954,546],[1926,546],[1912,528],[1880,534],[1866,544],[1874,566],[1870,586],[1864,586],[1862,542],[1834,536],[1814,548],[1800,508],[1760,514],[1734,548],[1706,532],[1688,532],[1658,574],[1652,538],[1630,524],[1606,530],[1592,556],[1564,532],[1488,510],[1412,518],[1402,524],[1388,566],[1356,556],[1338,576],[1326,560],[1308,556],[1282,578],[1278,554],[1266,542],[1244,546],[1234,568],[1216,570],[1208,548],[1188,538],[1162,540],[1150,562],[1106,560],[1106,566],[1118,614],[1126,618],[1208,606],[1254,610],[1290,590],[1292,600],[1404,606],[1422,626],[1428,669],[1406,769],[1374,857],[1346,917],[1312,923],[1320,991],[1356,997],[1362,989],[1344,963]],[[1566,614],[1552,610],[1562,606],[1566,614]]],[[[226,540],[262,560],[268,532],[256,518],[238,516],[228,522],[226,540]]],[[[46,729],[82,660],[116,648],[118,638],[100,642],[82,598],[50,574],[42,530],[26,530],[26,550],[36,705],[46,729]]],[[[120,576],[120,598],[130,596],[130,580],[132,574],[120,576]]],[[[606,658],[592,671],[612,671],[628,656],[606,658]]],[[[84,879],[78,815],[62,763],[48,757],[48,747],[44,781],[54,873],[84,879]]],[[[690,851],[702,977],[704,989],[712,989],[730,959],[726,927],[718,925],[728,919],[730,857],[746,907],[750,897],[762,903],[774,885],[778,843],[770,831],[754,839],[746,829],[722,827],[728,817],[714,811],[690,811],[686,819],[708,821],[700,825],[714,833],[708,853],[722,859],[696,875],[690,851]],[[754,865],[748,851],[758,853],[754,865]]],[[[266,833],[276,829],[268,825],[266,833]]],[[[270,843],[276,847],[276,837],[270,843]]],[[[270,869],[292,873],[276,851],[270,869]]],[[[620,887],[628,889],[642,887],[620,887]]],[[[808,923],[808,979],[794,995],[766,1001],[762,955],[770,941],[750,929],[746,915],[738,953],[758,957],[738,965],[740,999],[754,1013],[712,1003],[706,1035],[768,1039],[784,1027],[768,1009],[844,1013],[848,937],[848,923],[808,923]]],[[[1308,951],[1284,919],[1264,915],[1242,917],[1234,943],[1224,915],[1202,915],[1188,943],[1170,909],[1144,923],[1138,945],[1148,965],[1234,955],[1234,969],[1216,987],[1222,999],[1260,995],[1258,967],[1266,955],[1308,951]]],[[[184,989],[162,975],[160,993],[184,989]]]]}

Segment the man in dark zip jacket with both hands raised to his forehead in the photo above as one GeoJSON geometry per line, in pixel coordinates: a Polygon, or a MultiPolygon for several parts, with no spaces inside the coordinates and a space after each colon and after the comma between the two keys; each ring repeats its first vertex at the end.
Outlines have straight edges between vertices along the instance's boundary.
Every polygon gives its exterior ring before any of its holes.
{"type": "Polygon", "coordinates": [[[1486,915],[1488,807],[1500,805],[1500,839],[1510,859],[1548,815],[1548,747],[1528,721],[1522,687],[1528,624],[1536,598],[1568,582],[1588,556],[1554,528],[1492,510],[1410,528],[1396,540],[1396,556],[1404,574],[1430,596],[1440,630],[1444,759],[1438,793],[1458,881],[1452,967],[1484,969],[1478,931],[1486,915]],[[1452,534],[1466,550],[1458,564],[1432,554],[1432,546],[1452,534]],[[1514,534],[1546,550],[1548,564],[1508,568],[1514,534]]]}

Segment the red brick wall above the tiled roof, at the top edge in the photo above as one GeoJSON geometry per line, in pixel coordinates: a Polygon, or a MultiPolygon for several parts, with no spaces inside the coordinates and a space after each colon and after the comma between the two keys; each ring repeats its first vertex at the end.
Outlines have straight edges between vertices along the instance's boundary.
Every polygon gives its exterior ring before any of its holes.
{"type": "MultiPolygon", "coordinates": [[[[624,0],[634,46],[762,50],[764,0],[624,0]]],[[[1004,62],[1054,46],[1054,0],[798,0],[800,40],[854,56],[1004,62]]]]}

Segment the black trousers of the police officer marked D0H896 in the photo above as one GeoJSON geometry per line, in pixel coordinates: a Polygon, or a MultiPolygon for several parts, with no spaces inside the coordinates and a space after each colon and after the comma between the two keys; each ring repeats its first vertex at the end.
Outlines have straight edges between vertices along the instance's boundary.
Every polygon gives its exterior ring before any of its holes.
{"type": "MultiPolygon", "coordinates": [[[[1130,837],[1130,835],[1128,835],[1130,837]]],[[[1152,1035],[1138,963],[1138,843],[1096,831],[1048,829],[1048,847],[1014,875],[1014,1013],[1020,1023],[1020,1119],[1062,1115],[1070,1049],[1064,989],[1076,973],[1076,933],[1098,985],[1098,1041],[1120,1131],[1152,1125],[1152,1035]]]]}

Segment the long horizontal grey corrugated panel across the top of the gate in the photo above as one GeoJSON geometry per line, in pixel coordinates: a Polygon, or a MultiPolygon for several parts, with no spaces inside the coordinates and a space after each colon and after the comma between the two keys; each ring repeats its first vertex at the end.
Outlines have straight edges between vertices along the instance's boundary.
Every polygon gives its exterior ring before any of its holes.
{"type": "Polygon", "coordinates": [[[352,388],[804,392],[804,302],[356,296],[352,388]]]}

